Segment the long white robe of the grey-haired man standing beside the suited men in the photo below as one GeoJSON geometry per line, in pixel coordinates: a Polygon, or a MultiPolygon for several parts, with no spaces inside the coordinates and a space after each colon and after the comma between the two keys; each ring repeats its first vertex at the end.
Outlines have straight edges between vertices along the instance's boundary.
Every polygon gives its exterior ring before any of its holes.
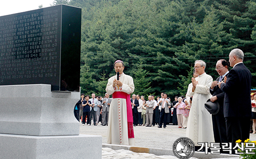
{"type": "Polygon", "coordinates": [[[195,78],[198,84],[192,92],[192,87],[188,93],[193,96],[192,105],[189,112],[188,127],[186,137],[191,139],[195,146],[198,142],[214,142],[213,126],[211,114],[204,108],[204,103],[211,98],[209,88],[213,79],[211,76],[203,73],[195,78]]]}

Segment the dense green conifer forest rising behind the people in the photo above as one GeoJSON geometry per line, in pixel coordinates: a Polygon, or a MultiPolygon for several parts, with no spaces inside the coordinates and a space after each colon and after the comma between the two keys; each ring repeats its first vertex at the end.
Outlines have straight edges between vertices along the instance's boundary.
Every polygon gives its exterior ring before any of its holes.
{"type": "Polygon", "coordinates": [[[120,59],[135,93],[185,95],[197,59],[240,48],[256,88],[256,0],[54,0],[82,8],[81,92],[104,95],[120,59]]]}

